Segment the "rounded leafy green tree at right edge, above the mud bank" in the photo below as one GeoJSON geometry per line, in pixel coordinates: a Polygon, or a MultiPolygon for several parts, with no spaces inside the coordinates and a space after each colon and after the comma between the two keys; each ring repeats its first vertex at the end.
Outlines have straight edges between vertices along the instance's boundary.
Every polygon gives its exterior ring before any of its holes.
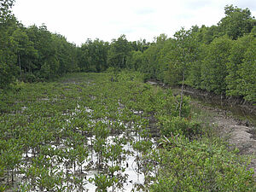
{"type": "Polygon", "coordinates": [[[229,74],[226,77],[227,95],[245,96],[250,102],[255,102],[255,49],[256,39],[253,35],[247,35],[234,42],[230,50],[230,58],[227,63],[229,74]]]}

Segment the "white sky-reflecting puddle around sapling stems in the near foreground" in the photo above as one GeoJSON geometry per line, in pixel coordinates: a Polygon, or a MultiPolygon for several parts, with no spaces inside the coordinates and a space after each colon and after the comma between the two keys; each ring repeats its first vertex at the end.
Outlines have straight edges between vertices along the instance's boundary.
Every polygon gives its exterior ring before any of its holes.
{"type": "MultiPolygon", "coordinates": [[[[118,144],[115,143],[116,140],[120,140],[122,138],[126,137],[125,135],[121,134],[119,136],[109,136],[106,139],[106,143],[104,144],[106,148],[115,148],[118,144]]],[[[95,191],[96,190],[96,184],[93,182],[90,182],[90,179],[93,179],[98,174],[104,174],[106,175],[106,172],[108,172],[109,167],[113,165],[120,166],[122,171],[115,172],[113,174],[114,177],[119,177],[119,180],[122,181],[121,185],[122,188],[118,189],[116,185],[114,185],[114,191],[132,191],[132,189],[135,189],[137,185],[143,185],[144,183],[144,174],[141,172],[139,164],[141,163],[139,159],[142,157],[142,153],[138,152],[132,147],[133,142],[139,141],[141,138],[136,136],[131,136],[132,142],[127,142],[124,145],[118,145],[121,147],[122,153],[119,155],[119,160],[112,162],[111,157],[108,157],[109,160],[103,162],[102,166],[107,167],[104,168],[98,168],[98,153],[95,150],[92,150],[91,153],[88,154],[88,157],[86,160],[84,160],[83,164],[79,164],[78,161],[76,161],[77,168],[74,169],[73,163],[70,162],[69,159],[63,158],[61,161],[62,163],[58,163],[58,158],[56,155],[54,156],[48,156],[45,155],[44,158],[49,158],[49,163],[56,166],[57,172],[63,172],[65,174],[71,174],[75,177],[78,177],[81,181],[83,181],[83,185],[78,188],[74,183],[63,183],[69,186],[69,189],[73,189],[73,191],[95,191]]],[[[154,140],[151,140],[154,142],[154,140]]],[[[90,148],[93,143],[96,142],[96,137],[87,137],[87,144],[85,147],[90,148]]],[[[63,152],[66,153],[72,153],[73,148],[67,148],[67,145],[65,144],[67,141],[62,140],[60,144],[52,144],[49,146],[49,151],[55,151],[57,149],[62,149],[63,152]]],[[[45,152],[44,152],[45,153],[45,152]]],[[[27,154],[22,154],[23,156],[23,168],[24,170],[28,171],[29,167],[32,166],[32,159],[33,157],[37,156],[38,154],[33,154],[32,149],[30,149],[27,154]]],[[[114,155],[114,154],[113,154],[114,155]]],[[[107,174],[108,175],[108,174],[107,174]]],[[[22,173],[17,176],[22,181],[21,183],[24,183],[23,181],[26,181],[26,183],[33,183],[32,180],[26,178],[26,174],[22,173]]],[[[38,189],[31,189],[30,191],[38,191],[38,189]]],[[[108,191],[112,191],[112,188],[108,191]]]]}

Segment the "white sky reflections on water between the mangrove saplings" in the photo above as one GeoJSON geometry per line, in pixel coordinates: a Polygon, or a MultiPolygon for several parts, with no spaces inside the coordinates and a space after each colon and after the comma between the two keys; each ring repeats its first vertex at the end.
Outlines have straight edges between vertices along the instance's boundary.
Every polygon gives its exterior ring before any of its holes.
{"type": "MultiPolygon", "coordinates": [[[[87,108],[85,107],[84,108],[85,112],[86,113],[93,113],[93,110],[90,109],[90,108],[87,108]]],[[[73,119],[73,116],[76,115],[76,113],[80,113],[81,111],[81,108],[80,106],[78,105],[78,107],[75,109],[75,113],[63,113],[63,115],[66,115],[67,116],[67,123],[70,123],[70,119],[73,119]]],[[[142,114],[143,111],[132,111],[134,114],[142,114]]],[[[109,119],[91,119],[90,120],[90,126],[93,126],[96,122],[98,121],[102,121],[102,123],[104,124],[108,124],[108,125],[113,125],[113,124],[116,124],[116,125],[120,125],[120,126],[125,126],[127,129],[126,130],[129,130],[129,128],[127,127],[128,125],[125,125],[123,122],[121,121],[114,121],[114,120],[109,120],[109,119]]],[[[119,134],[119,136],[109,136],[106,141],[107,141],[107,144],[113,144],[114,143],[114,139],[116,137],[119,137],[119,138],[122,138],[122,137],[127,137],[125,134],[119,134]]],[[[137,136],[135,136],[132,132],[129,133],[129,137],[130,139],[132,139],[132,141],[138,141],[139,138],[137,136]]],[[[92,136],[92,137],[87,137],[87,146],[89,148],[89,151],[90,151],[90,145],[91,143],[94,143],[94,141],[96,140],[96,137],[95,136],[92,136]]],[[[154,143],[154,140],[152,139],[151,140],[153,143],[154,143]]],[[[65,146],[66,143],[66,140],[65,139],[61,139],[61,142],[59,144],[51,144],[50,145],[50,148],[52,149],[62,149],[62,150],[66,150],[69,151],[70,148],[67,148],[65,146]]],[[[125,155],[125,160],[123,160],[122,162],[122,168],[125,168],[125,172],[121,172],[121,175],[122,176],[125,176],[125,174],[127,175],[127,178],[126,178],[126,181],[125,183],[123,183],[123,187],[124,189],[114,189],[115,191],[131,191],[134,187],[135,187],[135,184],[143,184],[144,183],[144,175],[142,172],[137,172],[138,170],[138,166],[137,166],[137,156],[141,156],[142,154],[139,154],[137,151],[135,151],[132,146],[131,146],[131,143],[127,142],[125,145],[122,146],[123,149],[126,151],[126,152],[131,152],[131,153],[128,153],[128,154],[121,154],[122,156],[125,155]]],[[[90,151],[91,152],[91,151],[90,151]]],[[[32,150],[30,149],[27,153],[28,155],[28,158],[31,159],[32,158],[32,150]]],[[[26,160],[26,154],[23,154],[23,158],[24,160],[26,160]]],[[[52,161],[53,163],[55,163],[55,166],[58,167],[58,172],[61,172],[63,171],[64,173],[66,172],[70,172],[70,173],[73,173],[74,170],[73,170],[73,166],[72,165],[65,165],[65,162],[67,163],[67,159],[64,159],[64,163],[61,163],[61,164],[57,164],[56,163],[56,160],[55,160],[55,156],[52,158],[52,161]]],[[[96,190],[96,186],[94,183],[90,183],[89,182],[89,178],[93,178],[95,177],[95,174],[98,173],[98,171],[96,171],[96,153],[93,151],[93,154],[91,155],[91,153],[88,155],[88,159],[84,161],[84,164],[82,167],[87,167],[87,166],[90,166],[90,164],[93,162],[93,166],[94,166],[94,170],[90,170],[90,171],[83,171],[84,175],[81,176],[81,177],[84,177],[84,189],[85,191],[95,191],[96,190]],[[92,160],[90,160],[92,158],[92,160]],[[88,160],[89,159],[89,160],[88,160]],[[91,162],[92,161],[92,162],[91,162]],[[86,178],[85,178],[86,177],[86,178]]],[[[30,163],[28,163],[27,165],[30,165],[30,163]]],[[[108,166],[111,166],[111,162],[108,162],[108,166]]],[[[79,177],[79,174],[77,174],[78,170],[79,170],[79,165],[77,164],[77,167],[76,167],[76,176],[79,177]]],[[[115,173],[116,174],[116,173],[115,173]]],[[[23,174],[20,174],[20,177],[24,177],[23,174]]],[[[71,186],[72,184],[69,183],[69,186],[71,186]]],[[[111,191],[112,188],[109,188],[109,191],[111,191]]],[[[31,190],[32,191],[32,190],[31,190]]],[[[79,191],[79,189],[77,190],[73,190],[73,191],[79,191]]]]}

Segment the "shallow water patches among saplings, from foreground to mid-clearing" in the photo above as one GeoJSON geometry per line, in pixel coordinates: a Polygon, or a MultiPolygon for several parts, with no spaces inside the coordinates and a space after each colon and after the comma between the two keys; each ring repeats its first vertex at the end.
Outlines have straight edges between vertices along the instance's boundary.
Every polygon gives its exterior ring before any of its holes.
{"type": "MultiPolygon", "coordinates": [[[[88,107],[83,107],[86,113],[92,114],[93,110],[88,108],[88,107]]],[[[74,116],[78,115],[78,113],[80,113],[82,111],[81,107],[78,105],[77,108],[74,110],[74,112],[72,113],[63,113],[63,115],[65,117],[67,117],[66,121],[67,124],[71,123],[71,120],[73,119],[74,116]]],[[[132,111],[134,114],[142,114],[143,111],[132,111]]],[[[131,127],[133,127],[133,123],[123,123],[119,120],[112,120],[112,119],[90,119],[90,124],[89,126],[93,126],[95,125],[97,122],[101,121],[103,124],[106,125],[113,125],[113,124],[118,124],[119,126],[125,126],[125,132],[122,134],[114,134],[111,136],[108,136],[106,138],[106,146],[110,146],[111,144],[117,144],[114,142],[114,139],[118,138],[119,140],[122,139],[123,137],[127,138],[128,141],[125,144],[121,144],[122,149],[124,150],[125,153],[122,153],[121,156],[124,160],[122,160],[121,162],[121,168],[124,168],[125,171],[124,172],[115,172],[114,175],[121,175],[122,177],[125,177],[125,182],[122,182],[123,184],[123,188],[115,188],[114,191],[132,191],[133,189],[135,189],[135,187],[137,185],[143,185],[144,183],[144,174],[143,172],[140,172],[141,168],[139,168],[138,166],[138,161],[137,158],[142,157],[142,154],[140,152],[138,152],[137,150],[135,150],[132,147],[132,142],[137,142],[139,140],[142,140],[143,138],[138,137],[135,133],[135,131],[131,131],[131,127]]],[[[64,131],[64,128],[63,128],[64,131]]],[[[84,163],[82,164],[82,172],[79,172],[79,164],[78,162],[76,162],[76,170],[74,170],[73,165],[68,165],[67,166],[67,162],[69,161],[68,159],[63,159],[62,163],[57,163],[57,157],[54,155],[51,157],[50,162],[54,165],[57,166],[57,172],[64,172],[66,174],[66,172],[69,172],[70,174],[79,177],[80,179],[83,180],[83,188],[84,190],[79,189],[77,186],[74,186],[74,184],[68,183],[68,186],[71,187],[73,186],[72,191],[96,191],[96,185],[95,183],[90,183],[90,178],[94,178],[97,174],[99,173],[103,173],[103,170],[99,170],[97,169],[97,155],[96,155],[96,151],[95,150],[91,150],[91,146],[93,143],[96,142],[96,137],[95,136],[91,136],[91,137],[86,137],[84,139],[86,141],[84,147],[88,148],[89,154],[88,154],[88,158],[86,160],[84,160],[84,163]],[[88,170],[86,167],[90,166],[90,169],[88,170]]],[[[152,143],[154,142],[154,139],[150,139],[150,141],[152,143]]],[[[105,146],[105,147],[106,147],[105,146]]],[[[155,145],[153,144],[153,146],[155,147],[155,145]]],[[[153,147],[153,148],[154,148],[153,147]]],[[[51,143],[49,145],[49,148],[52,149],[61,149],[63,151],[66,151],[67,153],[70,152],[70,150],[72,150],[72,147],[67,147],[67,140],[65,138],[62,138],[60,140],[60,143],[51,143]]],[[[32,150],[29,149],[26,154],[22,154],[23,157],[23,162],[24,162],[24,166],[23,168],[27,169],[29,166],[31,166],[32,163],[32,158],[33,158],[32,154],[32,150]]],[[[37,156],[38,154],[36,154],[37,156]]],[[[104,162],[105,166],[111,166],[111,162],[104,162]]],[[[106,173],[104,173],[104,175],[106,175],[106,173]]],[[[28,180],[24,180],[25,174],[18,174],[17,176],[18,178],[16,180],[21,181],[21,183],[29,183],[29,179],[28,180]]],[[[67,183],[65,181],[65,183],[63,183],[64,186],[67,186],[67,183]]],[[[140,191],[135,189],[136,191],[140,191]]],[[[38,191],[38,189],[31,189],[30,191],[38,191]]],[[[112,191],[112,188],[109,188],[108,191],[112,191]]]]}

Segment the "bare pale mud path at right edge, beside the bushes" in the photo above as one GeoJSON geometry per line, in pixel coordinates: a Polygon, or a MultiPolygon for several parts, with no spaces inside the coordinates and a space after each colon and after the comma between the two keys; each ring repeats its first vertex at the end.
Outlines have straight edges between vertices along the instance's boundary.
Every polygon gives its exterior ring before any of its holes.
{"type": "Polygon", "coordinates": [[[238,148],[240,154],[253,155],[248,168],[254,169],[256,178],[256,128],[247,121],[233,117],[223,109],[208,107],[195,101],[191,104],[209,114],[209,123],[215,125],[218,136],[228,141],[231,147],[238,148]]]}

